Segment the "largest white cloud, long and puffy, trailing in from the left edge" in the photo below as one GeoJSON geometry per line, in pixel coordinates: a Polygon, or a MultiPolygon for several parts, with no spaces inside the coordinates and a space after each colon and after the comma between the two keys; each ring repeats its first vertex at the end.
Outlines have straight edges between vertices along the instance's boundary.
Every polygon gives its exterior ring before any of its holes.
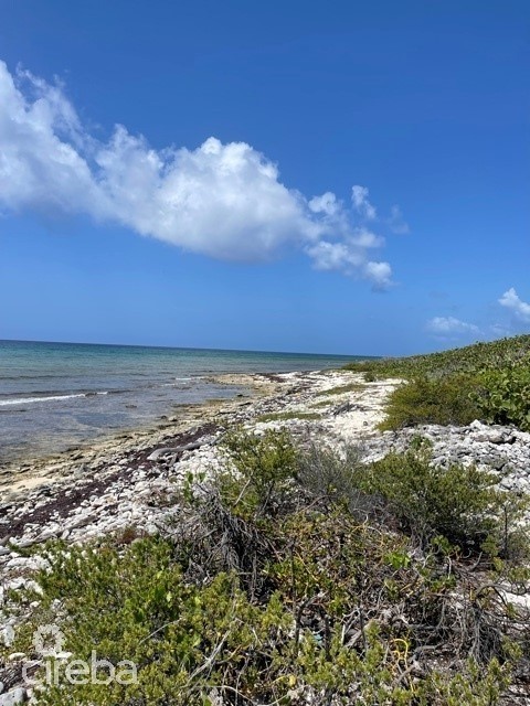
{"type": "Polygon", "coordinates": [[[358,222],[377,217],[368,193],[353,186],[351,207],[331,192],[308,200],[245,142],[155,150],[119,125],[102,142],[62,86],[0,62],[0,207],[88,214],[220,259],[298,248],[319,269],[384,288],[391,267],[369,256],[384,239],[358,222]]]}

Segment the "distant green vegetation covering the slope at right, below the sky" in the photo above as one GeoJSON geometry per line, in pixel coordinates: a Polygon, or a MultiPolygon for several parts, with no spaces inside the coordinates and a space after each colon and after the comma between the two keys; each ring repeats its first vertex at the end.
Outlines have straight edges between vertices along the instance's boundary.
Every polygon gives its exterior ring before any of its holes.
{"type": "Polygon", "coordinates": [[[481,419],[530,430],[530,335],[346,367],[370,379],[407,381],[392,395],[382,428],[481,419]]]}

